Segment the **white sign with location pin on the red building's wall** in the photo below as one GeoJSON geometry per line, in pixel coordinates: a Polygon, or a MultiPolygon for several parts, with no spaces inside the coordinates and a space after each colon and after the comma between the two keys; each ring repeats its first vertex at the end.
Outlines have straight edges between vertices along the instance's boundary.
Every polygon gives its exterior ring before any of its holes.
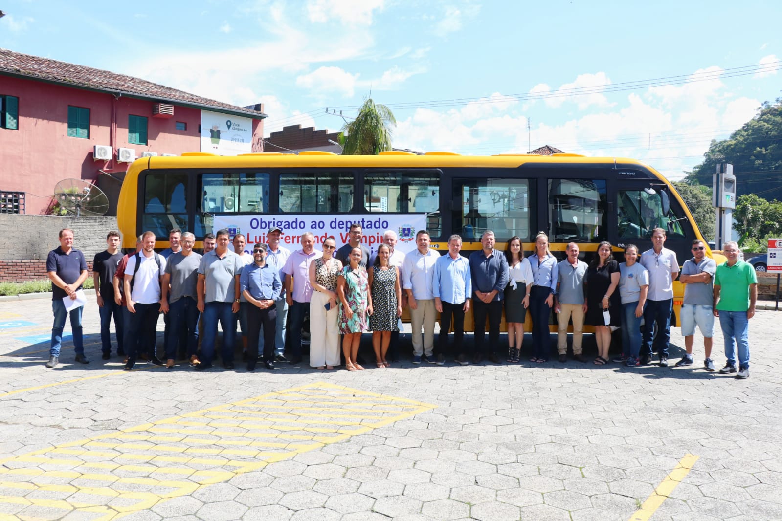
{"type": "Polygon", "coordinates": [[[253,152],[253,120],[202,110],[201,152],[217,155],[253,152]]]}

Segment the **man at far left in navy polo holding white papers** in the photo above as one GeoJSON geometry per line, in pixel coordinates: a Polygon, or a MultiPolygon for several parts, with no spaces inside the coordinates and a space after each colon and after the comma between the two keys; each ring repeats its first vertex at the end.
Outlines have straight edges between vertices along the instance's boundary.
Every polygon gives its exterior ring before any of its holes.
{"type": "Polygon", "coordinates": [[[52,280],[52,344],[49,348],[49,369],[59,363],[59,349],[63,344],[65,319],[70,315],[70,329],[74,335],[76,362],[87,364],[84,356],[84,342],[81,336],[81,312],[84,310],[84,291],[81,284],[87,280],[87,261],[84,254],[74,250],[74,230],[59,230],[59,248],[48,253],[46,271],[52,280]]]}

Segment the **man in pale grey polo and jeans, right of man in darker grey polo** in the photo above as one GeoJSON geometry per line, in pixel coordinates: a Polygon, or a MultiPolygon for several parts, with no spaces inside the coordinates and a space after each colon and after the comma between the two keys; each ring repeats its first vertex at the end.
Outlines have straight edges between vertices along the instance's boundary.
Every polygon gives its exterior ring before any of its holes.
{"type": "Polygon", "coordinates": [[[223,329],[222,357],[225,369],[234,369],[236,330],[234,313],[239,312],[239,276],[244,261],[228,249],[228,230],[217,230],[215,248],[203,255],[198,268],[198,310],[203,313],[201,358],[195,369],[212,366],[217,323],[223,329]]]}

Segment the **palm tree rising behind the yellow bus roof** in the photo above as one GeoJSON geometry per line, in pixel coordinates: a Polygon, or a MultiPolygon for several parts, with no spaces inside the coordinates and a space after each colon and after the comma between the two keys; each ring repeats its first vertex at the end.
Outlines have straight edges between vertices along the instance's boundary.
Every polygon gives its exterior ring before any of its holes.
{"type": "Polygon", "coordinates": [[[339,145],[343,147],[343,154],[378,155],[391,150],[389,125],[396,126],[396,118],[391,110],[386,105],[376,105],[372,98],[367,98],[356,119],[345,123],[339,133],[339,145]]]}

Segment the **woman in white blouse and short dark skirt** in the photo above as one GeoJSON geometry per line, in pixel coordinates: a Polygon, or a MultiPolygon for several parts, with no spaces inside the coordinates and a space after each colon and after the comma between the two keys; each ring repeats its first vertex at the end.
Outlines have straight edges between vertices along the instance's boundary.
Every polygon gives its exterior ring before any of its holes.
{"type": "Polygon", "coordinates": [[[505,287],[505,323],[508,324],[508,362],[518,363],[524,341],[524,320],[533,288],[533,269],[522,253],[522,239],[515,235],[505,248],[508,286],[505,287]]]}

